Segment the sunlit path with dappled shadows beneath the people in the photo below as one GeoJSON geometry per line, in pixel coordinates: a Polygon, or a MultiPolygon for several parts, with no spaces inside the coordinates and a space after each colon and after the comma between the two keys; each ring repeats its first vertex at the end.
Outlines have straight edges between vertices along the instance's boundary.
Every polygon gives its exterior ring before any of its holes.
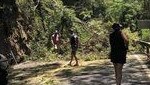
{"type": "MultiPolygon", "coordinates": [[[[67,62],[15,65],[9,75],[10,85],[115,85],[113,66],[107,59],[82,61],[79,67],[64,63],[67,62]]],[[[122,85],[150,85],[150,64],[146,56],[128,56],[122,85]]]]}

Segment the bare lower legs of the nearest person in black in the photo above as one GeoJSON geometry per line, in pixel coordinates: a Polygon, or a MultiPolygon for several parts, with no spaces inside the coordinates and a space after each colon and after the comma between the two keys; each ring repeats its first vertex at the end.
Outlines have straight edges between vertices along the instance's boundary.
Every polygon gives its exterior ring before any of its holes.
{"type": "Polygon", "coordinates": [[[121,85],[122,68],[123,68],[123,64],[117,63],[117,65],[116,65],[116,83],[117,83],[117,85],[121,85]]]}

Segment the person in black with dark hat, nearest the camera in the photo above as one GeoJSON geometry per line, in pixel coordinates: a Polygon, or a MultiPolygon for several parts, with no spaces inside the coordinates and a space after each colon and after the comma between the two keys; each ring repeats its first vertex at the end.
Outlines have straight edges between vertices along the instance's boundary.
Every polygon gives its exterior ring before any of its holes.
{"type": "Polygon", "coordinates": [[[126,54],[128,50],[128,38],[121,31],[121,26],[117,23],[112,25],[113,32],[109,35],[111,46],[110,59],[115,68],[117,85],[121,85],[122,68],[126,63],[126,54]]]}

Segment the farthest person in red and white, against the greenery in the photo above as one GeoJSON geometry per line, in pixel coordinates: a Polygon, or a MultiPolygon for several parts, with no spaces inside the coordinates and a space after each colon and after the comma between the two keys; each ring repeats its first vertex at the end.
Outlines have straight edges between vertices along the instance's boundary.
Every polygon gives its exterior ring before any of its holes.
{"type": "Polygon", "coordinates": [[[58,30],[55,30],[54,34],[51,36],[51,42],[54,46],[54,50],[58,52],[60,49],[60,34],[58,30]]]}

